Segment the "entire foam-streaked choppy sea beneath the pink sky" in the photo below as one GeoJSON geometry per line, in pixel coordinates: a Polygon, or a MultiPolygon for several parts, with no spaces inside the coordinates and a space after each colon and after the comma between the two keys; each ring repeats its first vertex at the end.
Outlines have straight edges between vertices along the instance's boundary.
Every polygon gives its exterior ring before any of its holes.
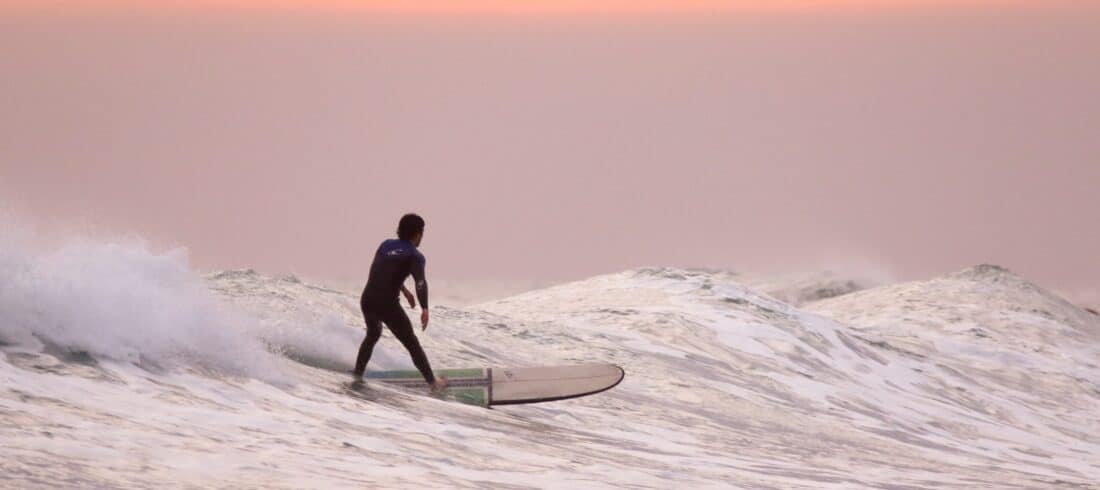
{"type": "MultiPolygon", "coordinates": [[[[626,379],[494,410],[351,390],[356,291],[0,242],[0,487],[1100,488],[1100,316],[998,266],[644,268],[432,315],[437,368],[626,379]]],[[[384,334],[371,369],[409,366],[384,334]]]]}

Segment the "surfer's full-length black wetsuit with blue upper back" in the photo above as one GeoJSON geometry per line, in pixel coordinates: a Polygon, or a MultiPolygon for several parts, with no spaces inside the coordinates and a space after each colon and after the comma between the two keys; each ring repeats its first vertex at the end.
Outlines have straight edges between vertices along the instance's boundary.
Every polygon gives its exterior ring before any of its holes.
{"type": "Polygon", "coordinates": [[[416,281],[416,295],[420,301],[420,307],[428,309],[428,281],[425,280],[425,258],[408,240],[386,240],[378,246],[374,252],[374,262],[371,263],[371,276],[366,280],[366,287],[363,288],[363,297],[360,300],[360,307],[363,308],[363,318],[366,320],[366,338],[359,347],[359,358],[355,360],[355,374],[362,375],[366,370],[366,363],[371,360],[371,352],[374,345],[382,337],[382,324],[389,327],[389,331],[400,340],[405,349],[413,357],[413,363],[424,374],[428,383],[436,381],[431,372],[431,364],[428,356],[425,356],[420,341],[416,338],[413,324],[409,323],[408,315],[402,308],[398,294],[405,279],[413,274],[416,281]]]}

